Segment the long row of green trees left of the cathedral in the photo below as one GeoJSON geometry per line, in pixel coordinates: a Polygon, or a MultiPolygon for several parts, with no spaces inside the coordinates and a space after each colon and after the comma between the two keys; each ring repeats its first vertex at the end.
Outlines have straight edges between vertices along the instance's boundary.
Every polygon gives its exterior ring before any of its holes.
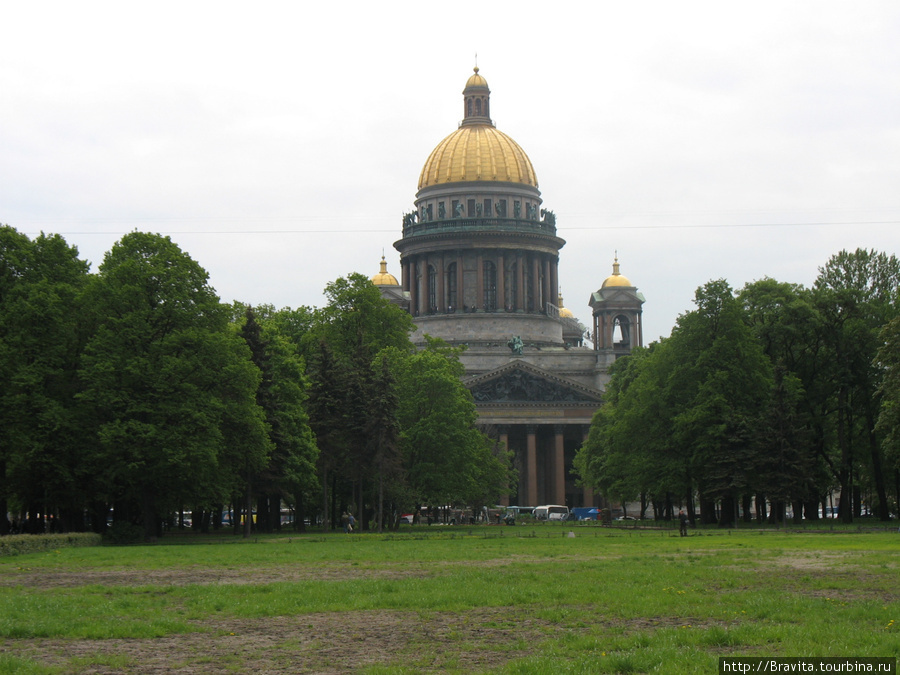
{"type": "Polygon", "coordinates": [[[168,237],[97,273],[59,235],[0,226],[0,534],[281,527],[281,509],[378,528],[494,503],[515,479],[477,426],[458,352],[416,351],[364,276],[322,308],[225,304],[168,237]],[[11,515],[11,518],[7,517],[11,515]]]}

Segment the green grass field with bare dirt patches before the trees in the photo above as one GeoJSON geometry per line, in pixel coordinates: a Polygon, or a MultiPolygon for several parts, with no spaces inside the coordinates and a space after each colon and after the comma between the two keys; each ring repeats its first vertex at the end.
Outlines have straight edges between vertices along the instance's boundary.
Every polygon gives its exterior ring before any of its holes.
{"type": "Polygon", "coordinates": [[[900,535],[421,527],[0,558],[0,673],[715,673],[731,655],[900,656],[900,535]]]}

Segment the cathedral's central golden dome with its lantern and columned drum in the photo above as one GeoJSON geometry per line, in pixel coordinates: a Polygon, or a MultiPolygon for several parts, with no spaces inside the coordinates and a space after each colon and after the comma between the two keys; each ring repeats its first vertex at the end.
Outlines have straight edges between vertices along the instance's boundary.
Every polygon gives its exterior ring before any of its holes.
{"type": "MultiPolygon", "coordinates": [[[[541,208],[528,155],[493,126],[490,89],[477,69],[463,99],[465,117],[428,156],[415,210],[404,216],[403,238],[394,243],[410,311],[547,316],[558,293],[565,241],[556,236],[553,213],[541,208]]],[[[530,332],[562,344],[554,323],[530,332]]],[[[509,327],[494,330],[485,339],[499,339],[509,327]]],[[[450,326],[446,331],[456,332],[450,326]]]]}

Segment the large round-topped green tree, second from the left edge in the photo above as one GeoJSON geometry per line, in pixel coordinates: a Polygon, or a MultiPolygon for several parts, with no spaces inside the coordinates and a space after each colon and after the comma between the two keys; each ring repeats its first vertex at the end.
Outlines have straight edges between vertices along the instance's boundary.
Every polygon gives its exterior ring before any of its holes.
{"type": "Polygon", "coordinates": [[[152,537],[180,499],[220,503],[265,465],[259,370],[205,270],[168,237],[123,237],[89,298],[81,398],[96,419],[94,467],[116,519],[152,537]]]}

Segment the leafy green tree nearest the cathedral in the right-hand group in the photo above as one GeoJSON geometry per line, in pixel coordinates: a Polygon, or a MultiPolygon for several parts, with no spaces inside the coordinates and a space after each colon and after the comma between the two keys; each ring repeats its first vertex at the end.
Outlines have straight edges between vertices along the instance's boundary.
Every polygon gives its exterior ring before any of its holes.
{"type": "Polygon", "coordinates": [[[591,424],[576,466],[582,479],[612,498],[675,492],[694,515],[732,523],[751,487],[757,461],[752,430],[766,410],[771,366],[722,280],[697,289],[697,309],[672,336],[611,369],[605,403],[591,424]]]}

